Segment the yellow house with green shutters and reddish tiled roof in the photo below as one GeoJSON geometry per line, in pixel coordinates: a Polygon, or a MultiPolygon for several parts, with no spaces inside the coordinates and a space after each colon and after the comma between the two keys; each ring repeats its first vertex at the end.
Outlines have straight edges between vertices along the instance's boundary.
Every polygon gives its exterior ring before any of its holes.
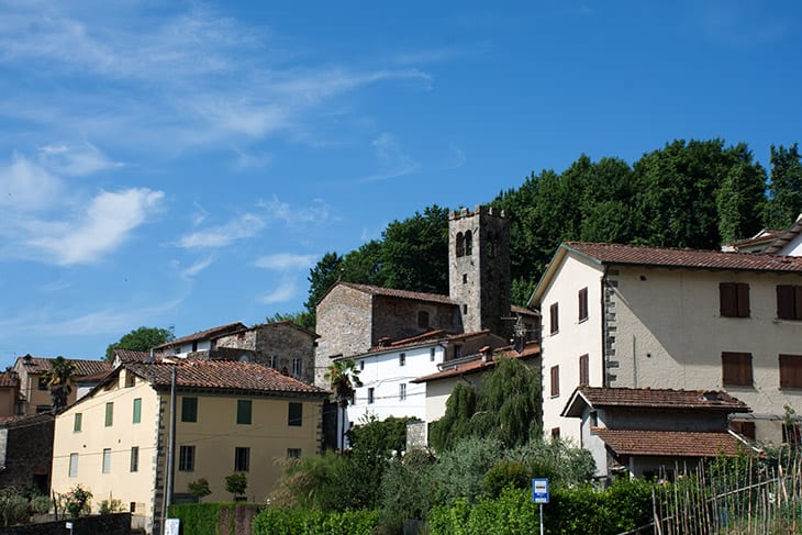
{"type": "Polygon", "coordinates": [[[277,458],[319,453],[327,394],[253,363],[123,364],[56,417],[52,489],[80,483],[94,511],[121,500],[135,527],[159,533],[175,422],[172,503],[200,478],[212,491],[204,500],[230,501],[225,477],[235,472],[247,476],[245,498],[263,502],[280,476],[277,458]]]}

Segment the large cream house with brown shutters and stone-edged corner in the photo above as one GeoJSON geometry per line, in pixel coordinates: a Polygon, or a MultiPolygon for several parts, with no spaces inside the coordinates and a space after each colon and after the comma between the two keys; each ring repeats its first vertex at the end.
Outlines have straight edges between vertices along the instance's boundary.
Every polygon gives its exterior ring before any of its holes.
{"type": "Polygon", "coordinates": [[[724,390],[734,427],[779,443],[802,412],[802,258],[565,243],[531,300],[543,314],[546,433],[578,386],[724,390]]]}

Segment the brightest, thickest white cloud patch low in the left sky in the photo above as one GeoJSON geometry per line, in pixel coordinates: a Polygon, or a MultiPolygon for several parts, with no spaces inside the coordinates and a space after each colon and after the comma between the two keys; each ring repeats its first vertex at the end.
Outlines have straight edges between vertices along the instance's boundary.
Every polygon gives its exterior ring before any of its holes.
{"type": "Polygon", "coordinates": [[[102,191],[76,221],[32,225],[40,235],[26,244],[63,266],[97,261],[125,242],[163,197],[161,191],[147,188],[102,191]]]}

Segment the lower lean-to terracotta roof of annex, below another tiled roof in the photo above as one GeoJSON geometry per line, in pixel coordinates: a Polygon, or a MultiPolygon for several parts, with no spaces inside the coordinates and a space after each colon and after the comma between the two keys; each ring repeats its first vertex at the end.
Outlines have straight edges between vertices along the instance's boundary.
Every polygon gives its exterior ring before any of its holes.
{"type": "Polygon", "coordinates": [[[631,431],[593,427],[604,444],[617,455],[644,457],[728,457],[745,450],[744,444],[726,432],[631,431]]]}

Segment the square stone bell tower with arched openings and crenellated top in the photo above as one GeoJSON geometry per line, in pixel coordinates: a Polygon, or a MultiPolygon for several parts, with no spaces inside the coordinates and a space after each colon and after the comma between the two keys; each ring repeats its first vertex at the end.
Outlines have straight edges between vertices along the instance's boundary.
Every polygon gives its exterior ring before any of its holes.
{"type": "Polygon", "coordinates": [[[476,207],[448,215],[449,297],[459,303],[465,332],[506,337],[510,315],[510,221],[503,210],[476,207]]]}

